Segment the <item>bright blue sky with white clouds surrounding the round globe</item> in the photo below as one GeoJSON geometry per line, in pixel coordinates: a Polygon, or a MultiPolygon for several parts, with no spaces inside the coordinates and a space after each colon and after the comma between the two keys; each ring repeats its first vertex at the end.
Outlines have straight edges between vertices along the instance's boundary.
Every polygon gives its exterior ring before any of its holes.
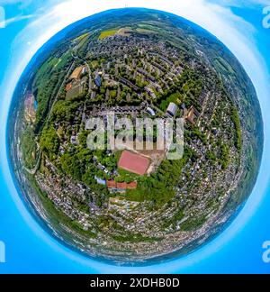
{"type": "Polygon", "coordinates": [[[141,6],[179,14],[223,41],[252,79],[265,122],[265,152],[257,186],[244,210],[220,236],[184,259],[142,269],[114,268],[86,260],[49,237],[28,214],[7,166],[5,142],[0,148],[0,241],[6,245],[1,272],[270,272],[262,261],[262,244],[270,240],[270,129],[268,95],[270,29],[262,25],[266,0],[0,0],[7,25],[0,29],[0,139],[14,87],[32,55],[69,23],[106,9],[141,6]],[[34,248],[33,248],[34,247],[34,248]]]}

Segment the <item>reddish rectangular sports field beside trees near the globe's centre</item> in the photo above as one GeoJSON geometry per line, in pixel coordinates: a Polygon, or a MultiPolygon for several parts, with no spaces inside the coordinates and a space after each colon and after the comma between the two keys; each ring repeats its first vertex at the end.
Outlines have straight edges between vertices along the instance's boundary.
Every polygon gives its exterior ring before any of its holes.
{"type": "Polygon", "coordinates": [[[142,155],[130,151],[123,151],[118,161],[118,167],[143,176],[148,170],[149,163],[148,158],[142,155]]]}

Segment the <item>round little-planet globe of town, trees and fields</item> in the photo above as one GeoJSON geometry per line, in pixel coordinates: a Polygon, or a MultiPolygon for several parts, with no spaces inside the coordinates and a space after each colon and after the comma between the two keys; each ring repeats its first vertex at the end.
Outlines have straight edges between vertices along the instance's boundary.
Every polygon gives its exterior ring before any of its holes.
{"type": "Polygon", "coordinates": [[[238,59],[194,23],[142,8],[58,32],[23,72],[9,116],[15,183],[31,214],[70,249],[122,265],[172,260],[220,234],[256,183],[263,139],[238,59]],[[124,119],[152,122],[140,148],[124,119]],[[182,121],[177,159],[158,147],[167,120],[182,121]],[[106,147],[89,147],[95,132],[106,147]]]}

